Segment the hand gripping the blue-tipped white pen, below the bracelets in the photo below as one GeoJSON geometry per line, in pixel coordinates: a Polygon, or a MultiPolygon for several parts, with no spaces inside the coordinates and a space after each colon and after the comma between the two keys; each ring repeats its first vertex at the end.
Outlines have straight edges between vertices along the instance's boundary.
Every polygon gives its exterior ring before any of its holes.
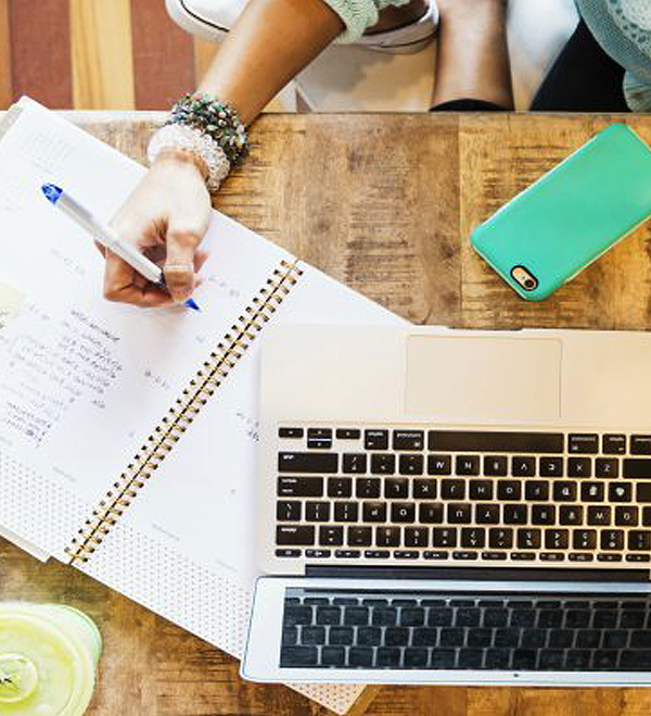
{"type": "Polygon", "coordinates": [[[152,307],[183,301],[192,294],[197,272],[207,254],[197,251],[210,217],[205,166],[182,151],[159,155],[119,209],[112,228],[163,266],[169,293],[138,274],[108,250],[104,296],[110,301],[152,307]]]}

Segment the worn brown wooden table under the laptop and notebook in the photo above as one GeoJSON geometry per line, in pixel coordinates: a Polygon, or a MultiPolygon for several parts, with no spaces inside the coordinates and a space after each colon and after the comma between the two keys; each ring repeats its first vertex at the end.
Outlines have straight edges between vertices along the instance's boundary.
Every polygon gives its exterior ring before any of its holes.
{"type": "MultiPolygon", "coordinates": [[[[151,115],[75,116],[141,160],[151,115]]],[[[417,324],[651,327],[643,227],[542,304],[520,300],[470,250],[471,227],[613,121],[608,116],[266,116],[216,205],[417,324]]],[[[651,141],[651,117],[627,117],[651,141]]],[[[99,287],[98,287],[99,290],[99,287]]],[[[651,372],[651,366],[650,366],[651,372]]],[[[105,652],[89,714],[324,716],[281,686],[85,575],[0,541],[0,599],[76,605],[105,652]]],[[[367,700],[368,702],[368,700],[367,700]]],[[[651,690],[391,687],[366,716],[648,716],[651,690]]]]}

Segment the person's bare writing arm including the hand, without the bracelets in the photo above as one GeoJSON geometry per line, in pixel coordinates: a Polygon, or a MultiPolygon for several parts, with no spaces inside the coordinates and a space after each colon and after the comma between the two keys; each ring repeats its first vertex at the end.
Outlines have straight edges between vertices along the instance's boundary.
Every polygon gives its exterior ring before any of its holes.
{"type": "MultiPolygon", "coordinates": [[[[343,27],[323,0],[251,0],[200,89],[230,104],[248,124],[343,27]]],[[[197,248],[210,213],[205,176],[203,161],[190,152],[163,152],[113,221],[120,237],[169,266],[171,298],[107,252],[107,299],[156,306],[192,293],[194,272],[205,260],[197,248]]]]}

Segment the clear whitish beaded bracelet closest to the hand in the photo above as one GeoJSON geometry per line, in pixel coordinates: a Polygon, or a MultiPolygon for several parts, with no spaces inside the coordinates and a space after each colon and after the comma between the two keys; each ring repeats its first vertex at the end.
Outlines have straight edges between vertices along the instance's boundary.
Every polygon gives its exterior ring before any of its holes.
{"type": "Polygon", "coordinates": [[[189,151],[203,160],[208,169],[209,191],[217,191],[230,172],[231,163],[224,149],[209,135],[187,124],[167,124],[152,135],[146,150],[149,163],[153,164],[167,149],[189,151]]]}

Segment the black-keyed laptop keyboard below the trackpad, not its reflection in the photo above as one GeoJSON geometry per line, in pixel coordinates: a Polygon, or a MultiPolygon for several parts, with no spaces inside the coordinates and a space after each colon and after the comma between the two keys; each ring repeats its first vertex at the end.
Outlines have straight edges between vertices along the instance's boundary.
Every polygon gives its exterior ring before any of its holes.
{"type": "Polygon", "coordinates": [[[281,558],[651,561],[651,435],[285,425],[278,445],[281,558]]]}

